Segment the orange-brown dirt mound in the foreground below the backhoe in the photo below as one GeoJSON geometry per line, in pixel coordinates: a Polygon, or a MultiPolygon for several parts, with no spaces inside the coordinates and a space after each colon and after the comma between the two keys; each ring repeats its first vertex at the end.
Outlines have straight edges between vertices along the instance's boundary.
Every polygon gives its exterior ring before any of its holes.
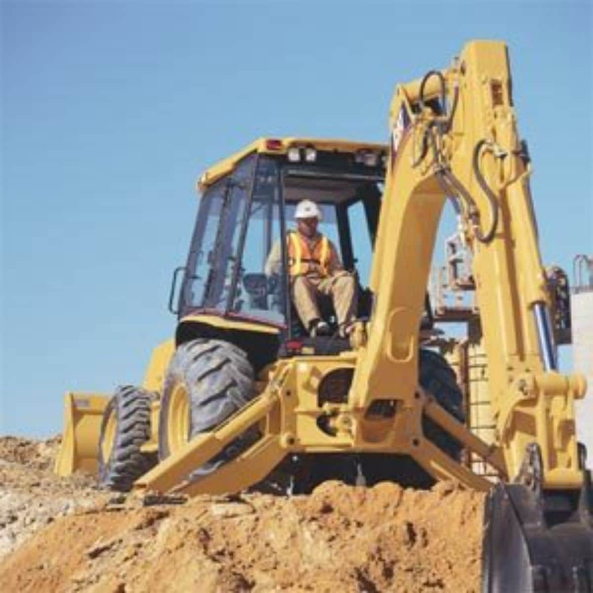
{"type": "Polygon", "coordinates": [[[483,495],[455,484],[143,506],[39,471],[40,499],[55,486],[75,506],[0,560],[2,591],[479,590],[483,495]]]}

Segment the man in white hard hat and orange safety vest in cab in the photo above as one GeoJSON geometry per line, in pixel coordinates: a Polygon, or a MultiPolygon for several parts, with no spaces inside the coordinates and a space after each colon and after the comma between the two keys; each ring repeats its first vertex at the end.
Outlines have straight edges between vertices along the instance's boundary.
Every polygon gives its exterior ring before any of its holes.
{"type": "MultiPolygon", "coordinates": [[[[331,297],[340,336],[345,337],[356,317],[356,279],[342,266],[333,243],[317,232],[321,211],[315,202],[299,202],[295,220],[297,230],[289,231],[286,239],[292,302],[311,336],[323,336],[330,333],[330,327],[321,317],[317,298],[318,295],[331,297]]],[[[282,250],[278,242],[270,251],[265,272],[272,276],[281,269],[282,250]]]]}

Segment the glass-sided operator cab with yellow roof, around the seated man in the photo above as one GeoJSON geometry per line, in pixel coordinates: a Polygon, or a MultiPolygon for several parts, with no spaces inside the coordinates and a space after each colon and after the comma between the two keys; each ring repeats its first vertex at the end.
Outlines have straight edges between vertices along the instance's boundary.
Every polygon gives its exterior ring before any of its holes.
{"type": "MultiPolygon", "coordinates": [[[[368,317],[368,282],[377,232],[386,147],[344,141],[262,139],[200,179],[202,192],[177,313],[274,328],[280,341],[304,336],[288,294],[286,233],[297,203],[313,200],[318,231],[358,274],[359,317],[368,317]],[[280,242],[282,269],[266,275],[280,242]]],[[[321,310],[332,321],[331,307],[321,310]]]]}

